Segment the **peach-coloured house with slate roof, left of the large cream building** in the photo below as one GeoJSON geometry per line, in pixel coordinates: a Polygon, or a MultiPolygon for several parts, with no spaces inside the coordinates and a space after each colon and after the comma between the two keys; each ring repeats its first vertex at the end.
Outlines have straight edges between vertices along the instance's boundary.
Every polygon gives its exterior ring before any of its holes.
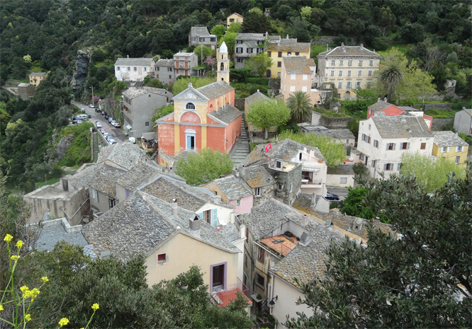
{"type": "Polygon", "coordinates": [[[287,101],[292,93],[303,91],[310,97],[310,105],[321,103],[321,92],[313,88],[316,64],[304,56],[282,57],[280,92],[287,101]]]}

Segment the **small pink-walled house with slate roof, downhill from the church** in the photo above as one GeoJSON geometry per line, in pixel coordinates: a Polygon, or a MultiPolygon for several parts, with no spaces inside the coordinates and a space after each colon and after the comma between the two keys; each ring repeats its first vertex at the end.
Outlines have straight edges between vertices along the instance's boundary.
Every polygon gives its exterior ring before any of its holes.
{"type": "Polygon", "coordinates": [[[215,179],[203,187],[221,197],[222,202],[234,209],[235,216],[250,214],[254,198],[252,189],[240,178],[238,171],[215,179]]]}

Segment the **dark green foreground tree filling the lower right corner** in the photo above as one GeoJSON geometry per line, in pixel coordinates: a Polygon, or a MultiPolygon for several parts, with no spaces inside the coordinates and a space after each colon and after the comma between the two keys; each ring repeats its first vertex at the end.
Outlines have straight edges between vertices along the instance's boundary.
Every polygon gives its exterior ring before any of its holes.
{"type": "Polygon", "coordinates": [[[327,270],[302,284],[288,328],[444,328],[472,325],[472,164],[429,194],[413,176],[369,180],[365,196],[394,236],[368,224],[368,243],[326,250],[327,270]],[[460,285],[458,285],[460,284],[460,285]]]}

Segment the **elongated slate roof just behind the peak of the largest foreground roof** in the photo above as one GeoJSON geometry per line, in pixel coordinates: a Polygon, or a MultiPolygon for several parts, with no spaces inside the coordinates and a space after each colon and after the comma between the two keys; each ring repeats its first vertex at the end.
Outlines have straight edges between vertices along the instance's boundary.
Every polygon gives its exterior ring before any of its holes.
{"type": "Polygon", "coordinates": [[[210,202],[210,196],[202,190],[166,176],[159,176],[151,180],[149,183],[142,185],[140,190],[165,202],[172,202],[172,199],[176,198],[179,207],[191,212],[196,212],[207,202],[210,202]]]}

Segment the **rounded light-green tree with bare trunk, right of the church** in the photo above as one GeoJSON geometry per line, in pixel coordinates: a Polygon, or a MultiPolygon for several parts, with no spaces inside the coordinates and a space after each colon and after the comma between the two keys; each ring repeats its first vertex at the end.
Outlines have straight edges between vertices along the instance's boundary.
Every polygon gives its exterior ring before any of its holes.
{"type": "Polygon", "coordinates": [[[265,130],[267,139],[267,129],[270,127],[280,127],[290,119],[290,109],[287,108],[283,100],[256,100],[251,104],[247,113],[247,122],[258,128],[265,130]]]}

